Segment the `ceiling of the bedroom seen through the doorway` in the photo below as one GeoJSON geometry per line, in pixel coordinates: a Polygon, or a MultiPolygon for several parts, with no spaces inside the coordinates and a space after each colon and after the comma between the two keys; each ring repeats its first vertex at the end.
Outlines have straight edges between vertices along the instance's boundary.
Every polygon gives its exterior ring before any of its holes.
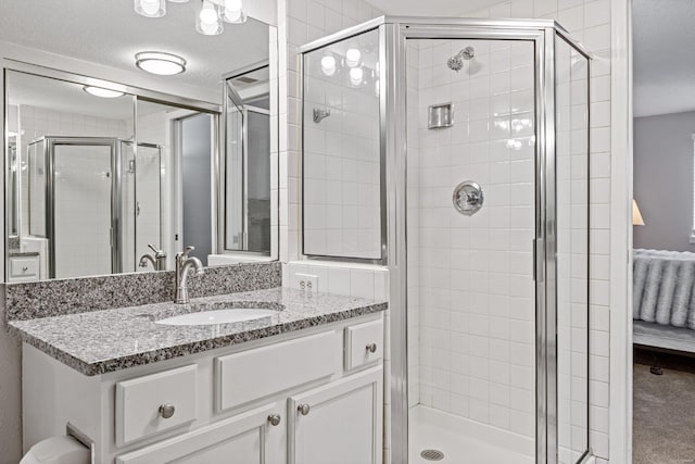
{"type": "Polygon", "coordinates": [[[695,110],[695,0],[634,0],[635,116],[695,110]]]}

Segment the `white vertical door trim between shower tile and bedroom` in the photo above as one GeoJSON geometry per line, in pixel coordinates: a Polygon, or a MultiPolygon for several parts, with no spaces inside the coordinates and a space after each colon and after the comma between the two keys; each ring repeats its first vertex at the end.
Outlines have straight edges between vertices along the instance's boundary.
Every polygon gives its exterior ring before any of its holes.
{"type": "MultiPolygon", "coordinates": [[[[604,59],[605,60],[605,59],[604,59]]],[[[610,1],[608,456],[632,462],[632,0],[610,1]]]]}

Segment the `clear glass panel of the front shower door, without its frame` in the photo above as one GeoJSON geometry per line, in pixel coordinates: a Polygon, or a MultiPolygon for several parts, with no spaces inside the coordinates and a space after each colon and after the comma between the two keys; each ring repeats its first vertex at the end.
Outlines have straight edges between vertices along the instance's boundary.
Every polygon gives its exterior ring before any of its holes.
{"type": "Polygon", "coordinates": [[[409,462],[533,463],[534,42],[406,50],[409,462]]]}

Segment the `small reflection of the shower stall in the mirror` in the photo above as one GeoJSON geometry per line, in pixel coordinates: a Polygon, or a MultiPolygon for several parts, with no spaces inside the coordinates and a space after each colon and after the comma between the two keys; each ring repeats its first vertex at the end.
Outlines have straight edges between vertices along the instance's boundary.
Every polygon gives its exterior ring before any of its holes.
{"type": "Polygon", "coordinates": [[[135,272],[160,247],[160,146],[41,137],[27,154],[28,234],[47,242],[50,278],[135,272]]]}

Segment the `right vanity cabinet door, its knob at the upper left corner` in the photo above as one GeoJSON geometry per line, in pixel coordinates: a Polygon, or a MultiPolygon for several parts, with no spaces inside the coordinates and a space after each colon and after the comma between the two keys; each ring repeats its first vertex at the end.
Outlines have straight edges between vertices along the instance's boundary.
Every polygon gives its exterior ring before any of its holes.
{"type": "Polygon", "coordinates": [[[288,464],[380,464],[381,366],[288,401],[288,464]]]}

